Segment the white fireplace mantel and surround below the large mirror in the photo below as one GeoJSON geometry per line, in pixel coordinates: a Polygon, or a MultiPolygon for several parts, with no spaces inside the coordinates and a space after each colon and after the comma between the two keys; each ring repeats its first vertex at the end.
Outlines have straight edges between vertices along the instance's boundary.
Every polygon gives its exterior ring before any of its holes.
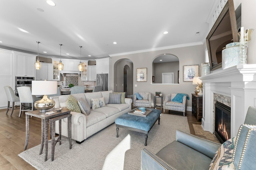
{"type": "Polygon", "coordinates": [[[256,64],[239,64],[200,79],[203,82],[202,128],[214,132],[214,96],[219,94],[231,98],[231,137],[236,136],[248,107],[256,107],[256,64]]]}

